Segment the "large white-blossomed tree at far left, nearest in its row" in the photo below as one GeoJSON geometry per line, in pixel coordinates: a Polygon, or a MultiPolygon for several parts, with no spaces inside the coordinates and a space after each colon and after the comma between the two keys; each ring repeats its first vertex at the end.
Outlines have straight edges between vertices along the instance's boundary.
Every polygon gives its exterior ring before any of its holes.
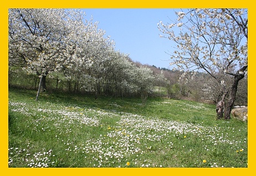
{"type": "Polygon", "coordinates": [[[66,17],[64,9],[9,9],[9,64],[41,77],[38,95],[48,73],[63,63],[70,32],[66,17]]]}

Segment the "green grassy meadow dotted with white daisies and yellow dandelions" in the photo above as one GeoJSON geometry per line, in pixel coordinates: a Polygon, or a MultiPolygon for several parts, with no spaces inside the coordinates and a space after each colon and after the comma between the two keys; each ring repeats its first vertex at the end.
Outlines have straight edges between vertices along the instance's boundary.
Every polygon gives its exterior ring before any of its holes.
{"type": "Polygon", "coordinates": [[[35,95],[9,89],[9,167],[247,167],[247,122],[214,105],[35,95]]]}

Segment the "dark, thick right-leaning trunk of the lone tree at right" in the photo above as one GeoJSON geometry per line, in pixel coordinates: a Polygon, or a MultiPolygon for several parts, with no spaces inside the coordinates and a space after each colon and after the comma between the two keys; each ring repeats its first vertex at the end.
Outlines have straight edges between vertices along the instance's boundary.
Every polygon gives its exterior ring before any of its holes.
{"type": "Polygon", "coordinates": [[[235,95],[237,94],[238,82],[239,82],[239,80],[243,79],[243,77],[244,77],[244,75],[234,77],[234,82],[233,82],[233,85],[231,87],[231,91],[229,93],[228,101],[226,103],[225,110],[224,110],[224,119],[226,119],[226,120],[229,120],[231,118],[230,115],[231,115],[231,110],[232,110],[233,105],[234,105],[235,95]]]}

